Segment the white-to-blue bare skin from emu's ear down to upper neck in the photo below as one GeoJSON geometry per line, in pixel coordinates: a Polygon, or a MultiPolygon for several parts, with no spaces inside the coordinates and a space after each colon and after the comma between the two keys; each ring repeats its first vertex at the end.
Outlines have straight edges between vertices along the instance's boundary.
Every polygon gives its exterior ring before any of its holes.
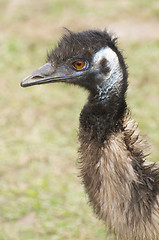
{"type": "Polygon", "coordinates": [[[96,86],[95,99],[98,101],[108,100],[112,95],[120,96],[123,73],[116,53],[109,47],[102,48],[93,58],[92,70],[96,72],[96,77],[100,79],[96,86]],[[105,60],[103,66],[102,62],[105,60]],[[102,64],[102,66],[101,66],[102,64]],[[101,73],[101,68],[109,69],[101,73]]]}

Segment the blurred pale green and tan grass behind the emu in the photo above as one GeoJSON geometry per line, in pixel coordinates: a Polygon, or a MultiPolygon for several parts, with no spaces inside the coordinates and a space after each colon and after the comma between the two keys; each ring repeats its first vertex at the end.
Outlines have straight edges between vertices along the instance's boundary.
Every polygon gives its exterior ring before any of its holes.
{"type": "Polygon", "coordinates": [[[128,105],[159,147],[159,3],[0,1],[0,240],[111,240],[87,204],[77,129],[87,93],[62,84],[22,89],[64,32],[107,27],[129,65],[128,105]]]}

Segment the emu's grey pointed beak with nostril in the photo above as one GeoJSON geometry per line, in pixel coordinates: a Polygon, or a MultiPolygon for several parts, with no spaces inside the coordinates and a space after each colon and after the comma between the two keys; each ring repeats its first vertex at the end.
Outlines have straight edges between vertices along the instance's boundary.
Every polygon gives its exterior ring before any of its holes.
{"type": "Polygon", "coordinates": [[[72,76],[69,75],[65,67],[59,69],[53,68],[51,63],[46,63],[42,67],[36,69],[31,75],[26,77],[21,82],[21,87],[29,87],[32,85],[46,84],[51,82],[66,82],[70,80],[72,76]]]}

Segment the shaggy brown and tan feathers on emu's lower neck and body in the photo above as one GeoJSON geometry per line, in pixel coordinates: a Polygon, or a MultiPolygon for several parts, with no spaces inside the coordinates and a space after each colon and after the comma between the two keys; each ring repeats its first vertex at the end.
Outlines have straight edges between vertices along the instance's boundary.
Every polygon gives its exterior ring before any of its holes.
{"type": "Polygon", "coordinates": [[[95,213],[122,240],[159,239],[159,169],[128,114],[99,147],[80,129],[80,169],[95,213]]]}

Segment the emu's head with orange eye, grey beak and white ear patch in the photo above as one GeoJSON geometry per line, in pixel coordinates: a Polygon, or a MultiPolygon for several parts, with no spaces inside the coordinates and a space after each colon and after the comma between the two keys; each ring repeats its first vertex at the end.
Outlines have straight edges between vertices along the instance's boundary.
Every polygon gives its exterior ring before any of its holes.
{"type": "Polygon", "coordinates": [[[47,63],[26,77],[21,86],[55,82],[82,86],[95,101],[124,96],[127,70],[116,39],[106,31],[68,31],[48,54],[47,63]]]}

